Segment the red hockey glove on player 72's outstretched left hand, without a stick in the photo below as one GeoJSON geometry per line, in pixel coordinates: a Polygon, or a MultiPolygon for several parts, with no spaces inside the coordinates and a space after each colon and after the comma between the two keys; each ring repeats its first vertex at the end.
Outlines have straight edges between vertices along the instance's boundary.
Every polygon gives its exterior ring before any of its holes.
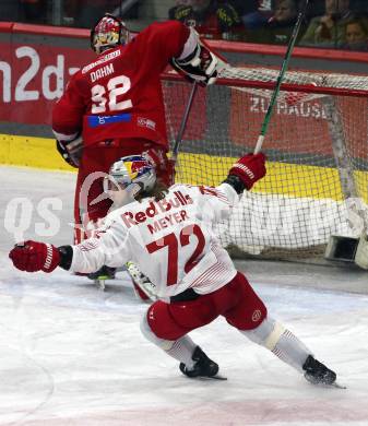
{"type": "Polygon", "coordinates": [[[52,272],[59,265],[60,253],[50,244],[28,240],[16,244],[10,251],[9,258],[21,271],[52,272]]]}

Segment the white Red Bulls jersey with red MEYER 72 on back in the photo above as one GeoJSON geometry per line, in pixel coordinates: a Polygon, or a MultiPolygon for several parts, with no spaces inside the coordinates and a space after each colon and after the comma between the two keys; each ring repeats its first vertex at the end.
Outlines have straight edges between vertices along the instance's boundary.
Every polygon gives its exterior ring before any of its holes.
{"type": "Polygon", "coordinates": [[[159,298],[189,287],[212,293],[237,273],[213,226],[229,216],[238,200],[234,188],[222,184],[174,185],[164,200],[134,201],[111,212],[94,238],[73,246],[71,270],[94,272],[133,261],[159,298]]]}

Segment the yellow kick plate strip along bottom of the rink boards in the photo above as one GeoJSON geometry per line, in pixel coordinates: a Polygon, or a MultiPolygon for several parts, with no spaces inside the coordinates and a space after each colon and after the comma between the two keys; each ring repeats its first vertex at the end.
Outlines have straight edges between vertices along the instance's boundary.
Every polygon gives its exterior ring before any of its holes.
{"type": "MultiPolygon", "coordinates": [[[[44,169],[75,170],[62,161],[55,140],[0,134],[0,164],[44,169]]],[[[177,181],[216,186],[237,158],[207,154],[180,153],[177,181]]],[[[276,193],[295,198],[343,200],[339,171],[332,167],[268,162],[266,178],[252,192],[276,193]]],[[[359,194],[368,202],[368,173],[357,170],[359,194]]]]}

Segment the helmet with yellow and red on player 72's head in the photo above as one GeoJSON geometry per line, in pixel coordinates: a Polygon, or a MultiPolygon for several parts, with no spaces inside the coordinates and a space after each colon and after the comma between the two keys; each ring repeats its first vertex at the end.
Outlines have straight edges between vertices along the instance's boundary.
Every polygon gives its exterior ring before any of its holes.
{"type": "Polygon", "coordinates": [[[104,179],[104,191],[126,190],[132,197],[150,191],[156,182],[154,166],[142,155],[128,155],[115,162],[104,179]]]}

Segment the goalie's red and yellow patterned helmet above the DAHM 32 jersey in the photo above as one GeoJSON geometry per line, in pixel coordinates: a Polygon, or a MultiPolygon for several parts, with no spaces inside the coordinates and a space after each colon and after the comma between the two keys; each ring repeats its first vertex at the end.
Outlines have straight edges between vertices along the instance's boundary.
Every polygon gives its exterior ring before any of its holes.
{"type": "Polygon", "coordinates": [[[119,17],[105,13],[91,29],[91,47],[96,54],[130,42],[130,32],[119,17]]]}

